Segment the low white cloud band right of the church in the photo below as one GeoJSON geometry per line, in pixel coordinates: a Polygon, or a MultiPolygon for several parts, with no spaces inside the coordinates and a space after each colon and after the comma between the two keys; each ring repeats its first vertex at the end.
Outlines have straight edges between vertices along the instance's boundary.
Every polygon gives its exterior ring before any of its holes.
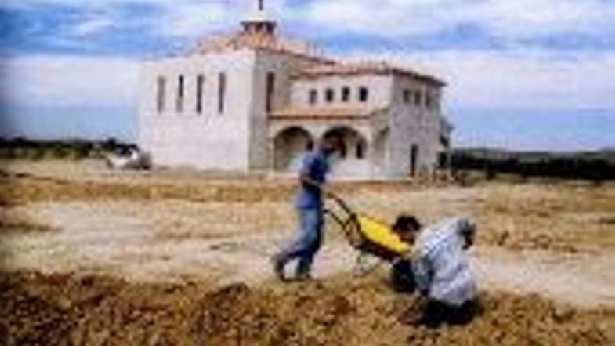
{"type": "Polygon", "coordinates": [[[615,53],[554,57],[545,51],[353,52],[443,78],[454,106],[615,108],[615,53]]]}

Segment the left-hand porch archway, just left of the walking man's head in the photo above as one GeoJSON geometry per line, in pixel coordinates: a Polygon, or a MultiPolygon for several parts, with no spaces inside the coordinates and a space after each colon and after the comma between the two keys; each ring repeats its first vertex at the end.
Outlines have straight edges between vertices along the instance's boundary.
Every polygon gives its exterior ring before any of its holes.
{"type": "Polygon", "coordinates": [[[301,166],[301,157],[314,147],[314,138],[303,127],[287,127],[273,139],[276,171],[296,171],[301,166]]]}

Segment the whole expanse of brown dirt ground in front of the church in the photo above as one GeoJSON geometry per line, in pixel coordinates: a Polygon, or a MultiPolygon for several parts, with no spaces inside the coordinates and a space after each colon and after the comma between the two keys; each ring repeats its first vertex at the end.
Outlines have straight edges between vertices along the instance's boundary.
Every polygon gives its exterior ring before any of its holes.
{"type": "Polygon", "coordinates": [[[0,168],[3,345],[615,344],[613,185],[335,183],[385,221],[477,219],[482,312],[434,331],[402,323],[416,298],[375,259],[359,273],[334,226],[317,282],[272,279],[268,257],[294,233],[287,177],[0,168]]]}

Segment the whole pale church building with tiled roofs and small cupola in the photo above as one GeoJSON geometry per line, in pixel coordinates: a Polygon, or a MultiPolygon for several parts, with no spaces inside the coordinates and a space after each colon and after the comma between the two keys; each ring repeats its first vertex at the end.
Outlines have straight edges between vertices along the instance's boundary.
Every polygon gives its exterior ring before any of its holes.
{"type": "Polygon", "coordinates": [[[143,63],[138,145],[155,166],[290,171],[328,133],[333,174],[393,178],[447,161],[444,82],[386,62],[328,59],[259,8],[236,34],[143,63]]]}

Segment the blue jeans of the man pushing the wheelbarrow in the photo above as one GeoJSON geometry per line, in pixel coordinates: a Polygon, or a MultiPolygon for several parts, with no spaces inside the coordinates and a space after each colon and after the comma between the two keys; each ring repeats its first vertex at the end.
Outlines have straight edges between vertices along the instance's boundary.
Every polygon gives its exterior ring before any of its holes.
{"type": "Polygon", "coordinates": [[[314,256],[322,245],[323,210],[297,209],[299,234],[293,243],[277,255],[282,264],[298,259],[297,275],[309,275],[314,256]]]}

